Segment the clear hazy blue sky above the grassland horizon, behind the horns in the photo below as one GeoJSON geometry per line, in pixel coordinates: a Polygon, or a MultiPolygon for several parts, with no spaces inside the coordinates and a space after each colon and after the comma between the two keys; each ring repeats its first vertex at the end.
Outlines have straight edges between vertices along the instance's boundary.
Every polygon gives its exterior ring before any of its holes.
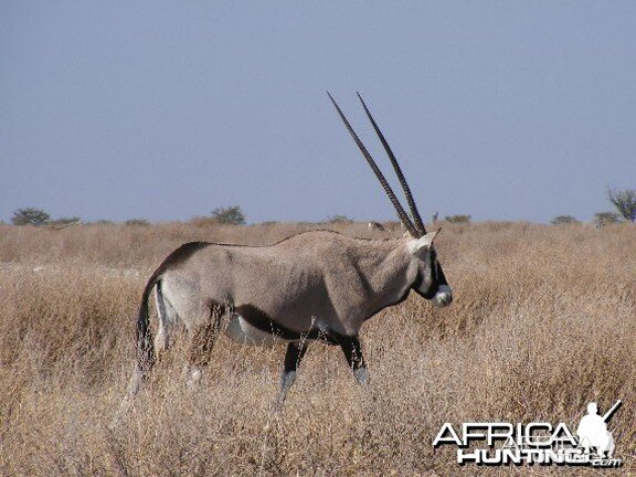
{"type": "Polygon", "coordinates": [[[636,188],[634,25],[632,1],[2,0],[0,220],[392,219],[326,89],[389,176],[361,92],[426,218],[590,220],[636,188]]]}

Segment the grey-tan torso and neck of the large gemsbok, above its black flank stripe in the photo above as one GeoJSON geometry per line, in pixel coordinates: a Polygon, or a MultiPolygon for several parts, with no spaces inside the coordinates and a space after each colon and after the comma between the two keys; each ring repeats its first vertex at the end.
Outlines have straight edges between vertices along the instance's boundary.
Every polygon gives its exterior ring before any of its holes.
{"type": "Polygon", "coordinates": [[[298,335],[317,329],[354,336],[425,273],[425,262],[406,244],[407,239],[367,241],[326,231],[272,246],[208,244],[162,271],[157,286],[189,331],[210,319],[211,307],[222,306],[237,316],[257,310],[298,335]]]}

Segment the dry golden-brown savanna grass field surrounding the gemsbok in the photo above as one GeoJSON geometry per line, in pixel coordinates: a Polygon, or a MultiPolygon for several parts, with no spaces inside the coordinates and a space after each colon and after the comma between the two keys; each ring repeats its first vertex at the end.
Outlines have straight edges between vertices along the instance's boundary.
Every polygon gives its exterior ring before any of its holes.
{"type": "Polygon", "coordinates": [[[141,292],[173,248],[320,227],[400,233],[365,225],[0,225],[0,476],[636,474],[633,224],[444,225],[436,247],[455,301],[435,309],[412,294],[368,321],[368,389],[339,348],[315,343],[276,416],[285,348],[221,337],[198,389],[177,344],[115,418],[141,292]],[[618,399],[619,469],[460,467],[455,447],[432,446],[445,422],[575,430],[590,401],[604,412],[618,399]]]}

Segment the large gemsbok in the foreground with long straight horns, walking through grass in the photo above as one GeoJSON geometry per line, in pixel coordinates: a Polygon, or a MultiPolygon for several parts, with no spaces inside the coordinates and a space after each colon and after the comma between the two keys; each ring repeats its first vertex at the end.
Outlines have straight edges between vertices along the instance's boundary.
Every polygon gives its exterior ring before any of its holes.
{"type": "Polygon", "coordinates": [[[296,379],[307,346],[339,346],[353,375],[367,383],[360,328],[380,310],[403,301],[411,290],[435,306],[453,294],[433,241],[426,233],[402,170],[389,144],[358,94],[398,176],[411,218],[375,161],[331,97],[340,118],[378,177],[406,233],[399,239],[362,240],[312,231],[268,246],[187,243],[159,265],[146,288],[137,318],[137,365],[128,399],[139,390],[177,326],[189,336],[186,365],[190,383],[208,364],[215,335],[225,330],[240,342],[287,343],[277,405],[296,379]],[[155,292],[157,336],[149,327],[148,298],[155,292]]]}

